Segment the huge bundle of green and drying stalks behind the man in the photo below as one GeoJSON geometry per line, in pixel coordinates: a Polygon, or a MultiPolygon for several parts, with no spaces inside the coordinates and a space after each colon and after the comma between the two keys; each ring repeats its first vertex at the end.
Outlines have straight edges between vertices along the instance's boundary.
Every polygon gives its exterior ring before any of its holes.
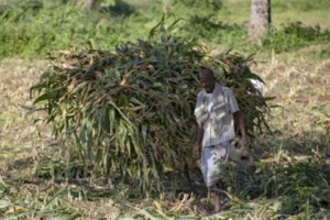
{"type": "Polygon", "coordinates": [[[34,105],[46,111],[45,124],[64,140],[66,155],[96,176],[120,174],[143,191],[157,191],[166,172],[191,164],[201,66],[233,89],[250,133],[267,128],[270,99],[249,81],[262,80],[249,70],[252,64],[252,56],[231,52],[211,56],[197,41],[169,35],[161,22],[148,41],[116,52],[61,52],[31,90],[38,91],[34,105]]]}

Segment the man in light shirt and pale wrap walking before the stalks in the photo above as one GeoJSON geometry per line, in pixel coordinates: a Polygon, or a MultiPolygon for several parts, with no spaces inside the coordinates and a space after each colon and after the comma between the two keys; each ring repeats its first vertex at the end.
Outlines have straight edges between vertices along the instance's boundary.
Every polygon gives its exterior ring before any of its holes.
{"type": "Polygon", "coordinates": [[[197,96],[195,108],[198,132],[194,156],[199,157],[201,150],[201,172],[213,195],[215,212],[219,212],[222,209],[219,189],[223,186],[217,162],[226,164],[228,161],[229,146],[235,138],[234,120],[239,124],[245,146],[248,136],[242,113],[231,89],[216,82],[215,74],[209,68],[202,68],[198,76],[202,90],[197,96]]]}

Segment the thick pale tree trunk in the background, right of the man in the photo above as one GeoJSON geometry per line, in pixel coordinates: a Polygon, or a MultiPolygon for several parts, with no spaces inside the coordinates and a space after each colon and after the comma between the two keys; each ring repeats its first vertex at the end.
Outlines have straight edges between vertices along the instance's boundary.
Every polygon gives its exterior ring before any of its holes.
{"type": "Polygon", "coordinates": [[[271,18],[271,0],[251,0],[250,41],[258,43],[264,34],[268,34],[271,18]]]}

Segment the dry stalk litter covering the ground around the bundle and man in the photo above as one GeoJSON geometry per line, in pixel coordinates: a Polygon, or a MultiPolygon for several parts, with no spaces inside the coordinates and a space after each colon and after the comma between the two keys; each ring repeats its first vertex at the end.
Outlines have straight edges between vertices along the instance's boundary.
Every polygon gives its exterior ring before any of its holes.
{"type": "MultiPolygon", "coordinates": [[[[36,64],[36,62],[33,63],[36,64]]],[[[37,69],[42,67],[37,66],[37,69]]],[[[329,91],[321,92],[322,87],[327,87],[327,81],[329,81],[329,68],[327,61],[288,61],[280,57],[274,57],[271,63],[253,67],[253,70],[260,73],[266,81],[265,96],[280,97],[273,103],[283,107],[274,109],[273,117],[270,119],[270,125],[275,130],[274,135],[257,135],[254,141],[254,152],[258,158],[256,176],[268,180],[268,190],[266,190],[267,194],[257,198],[241,199],[245,206],[227,201],[224,212],[206,218],[209,205],[207,198],[190,197],[189,195],[184,200],[183,194],[178,196],[174,194],[174,190],[165,191],[160,199],[132,199],[129,196],[130,188],[117,188],[117,193],[107,194],[106,190],[95,191],[84,185],[59,184],[43,178],[33,182],[35,177],[31,169],[34,168],[34,163],[30,163],[30,160],[26,158],[33,155],[32,146],[22,147],[22,136],[18,133],[26,136],[24,143],[35,143],[34,147],[40,148],[43,154],[50,155],[48,150],[54,146],[50,142],[50,135],[35,139],[34,117],[29,114],[23,118],[22,112],[26,112],[26,110],[16,108],[15,105],[31,105],[29,87],[37,81],[40,74],[36,75],[36,68],[30,67],[28,62],[1,61],[0,84],[3,89],[0,96],[14,92],[15,89],[22,92],[20,96],[1,97],[1,103],[6,101],[6,105],[1,105],[1,118],[9,122],[6,130],[1,130],[0,161],[3,182],[0,179],[0,218],[55,218],[68,217],[70,213],[78,212],[82,216],[81,219],[116,219],[118,216],[138,219],[145,215],[156,219],[179,218],[180,216],[191,219],[293,219],[306,216],[310,216],[311,219],[329,219],[330,215],[326,202],[329,187],[322,186],[330,182],[329,127],[327,125],[329,116],[327,118],[327,111],[324,111],[330,108],[329,102],[326,101],[329,100],[330,94],[329,91]],[[318,69],[318,74],[315,74],[316,69],[318,69]],[[15,73],[14,77],[13,73],[15,73]],[[288,75],[289,77],[287,77],[288,75]],[[304,82],[304,78],[310,77],[317,78],[317,87],[314,84],[304,82]],[[12,87],[7,85],[12,85],[12,87]],[[305,89],[297,90],[295,96],[308,97],[310,94],[314,99],[306,99],[301,102],[289,97],[288,89],[295,88],[296,85],[300,85],[305,89]],[[321,97],[323,95],[324,99],[321,97]],[[11,112],[13,118],[8,118],[7,112],[11,112]],[[7,148],[8,143],[12,143],[14,147],[7,148]],[[14,153],[12,153],[13,151],[14,153]],[[12,156],[7,157],[7,153],[12,156]],[[18,162],[15,163],[15,161],[18,162]],[[271,177],[276,174],[277,166],[283,173],[275,175],[276,180],[275,177],[271,177]],[[318,178],[315,176],[312,179],[309,176],[306,178],[305,172],[319,174],[318,178]],[[267,174],[270,178],[267,178],[267,174]],[[322,176],[326,178],[319,182],[318,179],[322,176]],[[315,183],[317,185],[312,186],[315,183]],[[54,198],[52,195],[57,191],[59,193],[56,199],[46,209],[43,208],[54,198]],[[95,193],[91,194],[91,191],[95,193]],[[280,195],[282,191],[292,194],[289,196],[280,195]],[[297,198],[299,200],[296,200],[297,198]],[[288,204],[285,204],[287,201],[288,204]],[[296,204],[299,206],[294,206],[296,204]],[[182,211],[170,212],[170,209],[175,209],[177,206],[182,206],[182,211]],[[286,209],[283,210],[283,207],[286,209]],[[134,217],[135,215],[136,217],[134,217]]],[[[79,217],[72,219],[79,219],[79,217]]]]}

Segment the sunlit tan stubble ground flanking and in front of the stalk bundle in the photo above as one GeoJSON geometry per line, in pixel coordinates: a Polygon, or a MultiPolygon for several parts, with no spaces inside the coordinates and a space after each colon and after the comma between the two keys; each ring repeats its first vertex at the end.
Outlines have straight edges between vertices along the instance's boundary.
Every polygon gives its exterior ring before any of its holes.
{"type": "MultiPolygon", "coordinates": [[[[16,187],[12,190],[16,190],[13,194],[16,197],[13,198],[32,202],[33,197],[52,197],[61,191],[61,188],[66,188],[69,189],[68,196],[57,202],[77,212],[84,210],[85,219],[114,219],[128,210],[136,211],[147,207],[172,210],[173,213],[202,215],[202,211],[197,210],[198,207],[191,206],[200,198],[187,194],[173,197],[164,195],[163,199],[161,197],[157,201],[145,199],[138,202],[134,199],[125,200],[127,191],[119,190],[111,199],[101,197],[97,200],[84,200],[72,196],[84,191],[76,190],[79,188],[76,185],[68,186],[66,183],[52,180],[35,183],[32,175],[37,163],[35,158],[40,152],[52,147],[54,140],[50,131],[43,131],[38,135],[38,129],[33,122],[41,116],[31,111],[33,107],[29,88],[37,81],[46,66],[46,62],[38,61],[0,62],[0,183],[14,183],[16,187]]],[[[289,140],[283,143],[287,144],[288,148],[295,148],[295,152],[316,147],[316,154],[322,151],[323,155],[330,156],[330,59],[289,59],[273,55],[266,63],[254,66],[253,70],[266,82],[265,96],[276,96],[273,105],[278,107],[273,109],[273,116],[270,118],[271,128],[277,135],[276,140],[289,140]]],[[[276,160],[276,156],[270,153],[272,143],[266,134],[256,138],[255,147],[264,150],[257,155],[261,160],[276,160]]],[[[305,160],[306,155],[296,154],[292,157],[305,160]]],[[[47,202],[35,202],[47,207],[47,202]]],[[[8,211],[14,212],[19,208],[20,206],[15,206],[15,209],[8,211]]]]}

